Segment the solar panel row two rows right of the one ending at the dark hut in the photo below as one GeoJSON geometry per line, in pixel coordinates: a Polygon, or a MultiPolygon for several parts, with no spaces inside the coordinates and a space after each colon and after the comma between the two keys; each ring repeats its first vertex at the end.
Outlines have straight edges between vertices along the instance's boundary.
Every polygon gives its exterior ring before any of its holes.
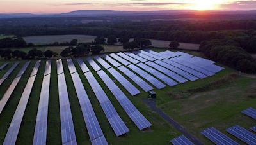
{"type": "Polygon", "coordinates": [[[155,76],[156,78],[159,78],[161,81],[163,81],[164,83],[166,83],[169,86],[175,86],[178,84],[175,81],[173,81],[172,79],[168,78],[168,76],[162,74],[161,72],[157,71],[156,69],[153,69],[150,66],[147,66],[146,64],[140,63],[140,64],[137,64],[137,66],[150,72],[153,76],[155,76]]]}

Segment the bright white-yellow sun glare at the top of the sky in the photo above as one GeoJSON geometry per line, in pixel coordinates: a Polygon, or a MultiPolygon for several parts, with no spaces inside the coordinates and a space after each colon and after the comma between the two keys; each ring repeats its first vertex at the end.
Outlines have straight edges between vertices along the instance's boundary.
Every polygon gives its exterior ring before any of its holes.
{"type": "Polygon", "coordinates": [[[207,0],[195,0],[193,1],[193,3],[191,4],[191,8],[192,10],[200,10],[200,11],[204,11],[204,10],[216,10],[218,9],[218,4],[220,3],[220,0],[211,0],[211,1],[207,1],[207,0]]]}

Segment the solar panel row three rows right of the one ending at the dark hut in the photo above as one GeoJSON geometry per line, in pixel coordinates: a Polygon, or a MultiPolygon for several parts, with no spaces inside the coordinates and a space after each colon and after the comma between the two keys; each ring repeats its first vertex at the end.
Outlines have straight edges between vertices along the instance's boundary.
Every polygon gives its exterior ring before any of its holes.
{"type": "Polygon", "coordinates": [[[182,78],[178,74],[175,74],[174,72],[172,72],[162,66],[159,66],[158,64],[155,64],[154,62],[146,62],[146,64],[154,69],[157,69],[158,71],[162,72],[163,74],[170,76],[171,78],[175,79],[179,83],[185,83],[186,81],[188,81],[187,79],[182,78]]]}

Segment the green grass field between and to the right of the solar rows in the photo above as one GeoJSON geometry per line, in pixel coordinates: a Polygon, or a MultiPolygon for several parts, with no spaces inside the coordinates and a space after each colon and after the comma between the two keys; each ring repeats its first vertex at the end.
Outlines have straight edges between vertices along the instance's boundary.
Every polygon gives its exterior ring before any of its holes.
{"type": "MultiPolygon", "coordinates": [[[[161,49],[154,49],[161,51],[161,49]]],[[[201,55],[193,52],[194,55],[201,55]]],[[[87,66],[88,63],[84,61],[87,66]]],[[[1,61],[0,65],[4,62],[1,61]]],[[[13,62],[11,62],[12,64],[13,62]]],[[[10,78],[8,78],[0,86],[0,97],[3,96],[5,90],[8,88],[19,69],[24,64],[24,61],[15,69],[10,78]]],[[[15,88],[12,97],[6,104],[3,113],[0,115],[0,144],[3,144],[3,139],[8,130],[12,116],[15,112],[19,99],[28,81],[28,76],[33,69],[32,61],[24,76],[20,80],[17,88],[15,88]]],[[[104,115],[100,104],[95,97],[92,88],[85,78],[76,61],[74,64],[77,72],[83,82],[84,88],[88,93],[93,109],[99,120],[100,127],[109,144],[168,144],[168,141],[173,137],[180,135],[171,125],[169,125],[161,116],[143,103],[143,99],[147,99],[148,93],[143,92],[131,79],[127,78],[136,88],[139,88],[141,93],[136,96],[131,96],[123,88],[120,83],[116,84],[129,97],[131,102],[138,108],[139,111],[152,123],[149,130],[139,131],[132,123],[125,111],[122,109],[118,101],[108,90],[107,86],[97,76],[97,73],[90,70],[104,89],[109,99],[111,100],[116,111],[124,120],[130,132],[123,137],[115,137],[115,133],[111,129],[106,116],[104,115]]],[[[11,65],[0,71],[0,77],[4,72],[10,68],[11,65]]],[[[90,144],[88,133],[84,124],[83,114],[76,95],[72,78],[68,71],[67,62],[63,60],[65,69],[65,77],[67,81],[67,88],[72,111],[72,118],[74,121],[74,128],[76,132],[76,139],[78,144],[90,144]]],[[[36,76],[35,85],[29,98],[28,106],[22,120],[22,125],[19,131],[17,144],[32,144],[33,134],[35,130],[36,113],[38,101],[40,97],[40,90],[42,79],[44,76],[45,60],[42,60],[40,69],[36,76]]],[[[114,79],[108,71],[107,74],[114,79]]],[[[119,71],[120,72],[120,71],[119,71]]],[[[121,73],[122,74],[122,73],[121,73]]],[[[124,74],[123,74],[124,75],[124,74]]],[[[51,70],[51,87],[49,96],[49,113],[48,113],[48,128],[47,128],[47,144],[61,144],[61,128],[60,128],[60,110],[58,100],[58,85],[56,78],[56,62],[52,61],[51,70]]],[[[180,84],[172,88],[166,87],[161,90],[154,90],[157,92],[157,107],[168,114],[175,121],[180,123],[190,134],[195,135],[200,141],[205,144],[211,144],[205,137],[200,134],[200,131],[207,127],[215,127],[229,137],[231,135],[225,132],[225,129],[232,127],[232,125],[239,124],[244,128],[250,128],[255,125],[255,121],[240,112],[247,107],[256,107],[256,78],[247,78],[246,76],[239,76],[236,71],[226,67],[224,71],[207,79],[197,80],[195,82],[188,82],[180,84]]],[[[232,137],[235,139],[234,137],[232,137]]],[[[242,143],[235,139],[237,142],[242,143]]]]}

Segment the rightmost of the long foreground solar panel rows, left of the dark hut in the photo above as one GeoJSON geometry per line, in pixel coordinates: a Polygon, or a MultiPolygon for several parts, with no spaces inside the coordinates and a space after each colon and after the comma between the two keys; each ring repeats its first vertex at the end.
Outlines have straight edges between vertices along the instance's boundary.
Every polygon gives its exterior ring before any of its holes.
{"type": "Polygon", "coordinates": [[[108,86],[109,90],[116,97],[120,105],[123,107],[124,111],[128,114],[129,118],[135,123],[135,125],[143,130],[151,126],[151,123],[136,109],[136,107],[132,104],[132,102],[127,98],[127,96],[118,88],[118,86],[114,83],[114,81],[109,78],[109,76],[104,71],[98,71],[100,78],[106,86],[108,86]]]}

